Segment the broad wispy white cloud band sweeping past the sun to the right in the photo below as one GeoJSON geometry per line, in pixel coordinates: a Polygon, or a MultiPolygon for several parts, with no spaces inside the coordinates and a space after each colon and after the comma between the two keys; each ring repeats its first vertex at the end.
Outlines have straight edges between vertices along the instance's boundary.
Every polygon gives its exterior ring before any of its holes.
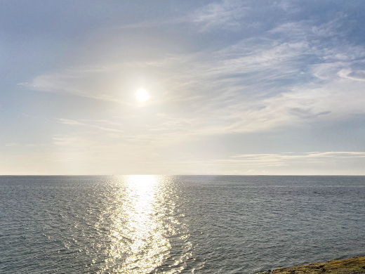
{"type": "Polygon", "coordinates": [[[143,67],[155,75],[164,75],[164,84],[159,88],[166,91],[164,96],[156,97],[155,103],[165,111],[156,121],[143,126],[144,133],[139,134],[148,139],[164,139],[153,135],[157,131],[173,131],[166,134],[166,139],[175,133],[179,136],[175,140],[180,141],[223,132],[265,131],[365,112],[363,84],[352,81],[350,73],[343,73],[361,60],[364,48],[318,49],[317,34],[307,23],[296,25],[299,33],[300,28],[303,33],[310,32],[303,34],[302,40],[273,39],[268,34],[213,53],[203,51],[154,62],[112,65],[110,69],[104,65],[102,70],[44,75],[34,79],[32,86],[126,103],[118,87],[120,77],[128,79],[130,72],[126,67],[131,71],[143,67]],[[308,56],[315,62],[308,63],[308,56]],[[319,63],[320,60],[324,61],[319,63]],[[344,78],[347,81],[341,80],[344,78]],[[171,104],[177,108],[164,107],[171,104]],[[184,112],[175,112],[179,108],[184,112]]]}

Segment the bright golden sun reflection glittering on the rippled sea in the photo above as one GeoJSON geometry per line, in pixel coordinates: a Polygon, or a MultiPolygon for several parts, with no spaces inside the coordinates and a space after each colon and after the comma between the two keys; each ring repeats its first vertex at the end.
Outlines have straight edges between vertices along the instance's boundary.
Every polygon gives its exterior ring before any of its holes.
{"type": "Polygon", "coordinates": [[[107,212],[110,246],[100,273],[179,273],[191,254],[171,255],[171,237],[190,249],[187,227],[175,218],[172,190],[159,176],[133,175],[119,178],[119,193],[107,212]],[[160,269],[160,270],[161,270],[160,269]]]}

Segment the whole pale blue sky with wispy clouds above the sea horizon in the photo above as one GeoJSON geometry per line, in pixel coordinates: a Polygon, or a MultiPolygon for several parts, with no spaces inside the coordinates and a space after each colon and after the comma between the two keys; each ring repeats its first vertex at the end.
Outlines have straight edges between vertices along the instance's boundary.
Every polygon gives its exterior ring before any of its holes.
{"type": "Polygon", "coordinates": [[[365,175],[364,14],[0,0],[0,175],[365,175]]]}

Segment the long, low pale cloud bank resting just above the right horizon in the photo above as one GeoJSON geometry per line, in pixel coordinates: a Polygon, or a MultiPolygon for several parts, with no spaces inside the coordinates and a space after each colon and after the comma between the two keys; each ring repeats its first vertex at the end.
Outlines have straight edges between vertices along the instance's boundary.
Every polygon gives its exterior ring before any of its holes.
{"type": "MultiPolygon", "coordinates": [[[[199,167],[196,174],[364,175],[365,152],[305,152],[237,155],[230,159],[192,160],[166,164],[199,167]]],[[[189,172],[187,171],[187,174],[189,172]]]]}

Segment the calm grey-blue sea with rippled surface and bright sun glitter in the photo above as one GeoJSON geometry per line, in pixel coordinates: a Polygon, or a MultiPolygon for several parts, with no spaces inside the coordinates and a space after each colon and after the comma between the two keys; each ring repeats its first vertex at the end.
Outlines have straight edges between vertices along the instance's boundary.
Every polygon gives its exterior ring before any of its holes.
{"type": "Polygon", "coordinates": [[[364,176],[0,176],[0,273],[255,273],[361,255],[364,176]]]}

